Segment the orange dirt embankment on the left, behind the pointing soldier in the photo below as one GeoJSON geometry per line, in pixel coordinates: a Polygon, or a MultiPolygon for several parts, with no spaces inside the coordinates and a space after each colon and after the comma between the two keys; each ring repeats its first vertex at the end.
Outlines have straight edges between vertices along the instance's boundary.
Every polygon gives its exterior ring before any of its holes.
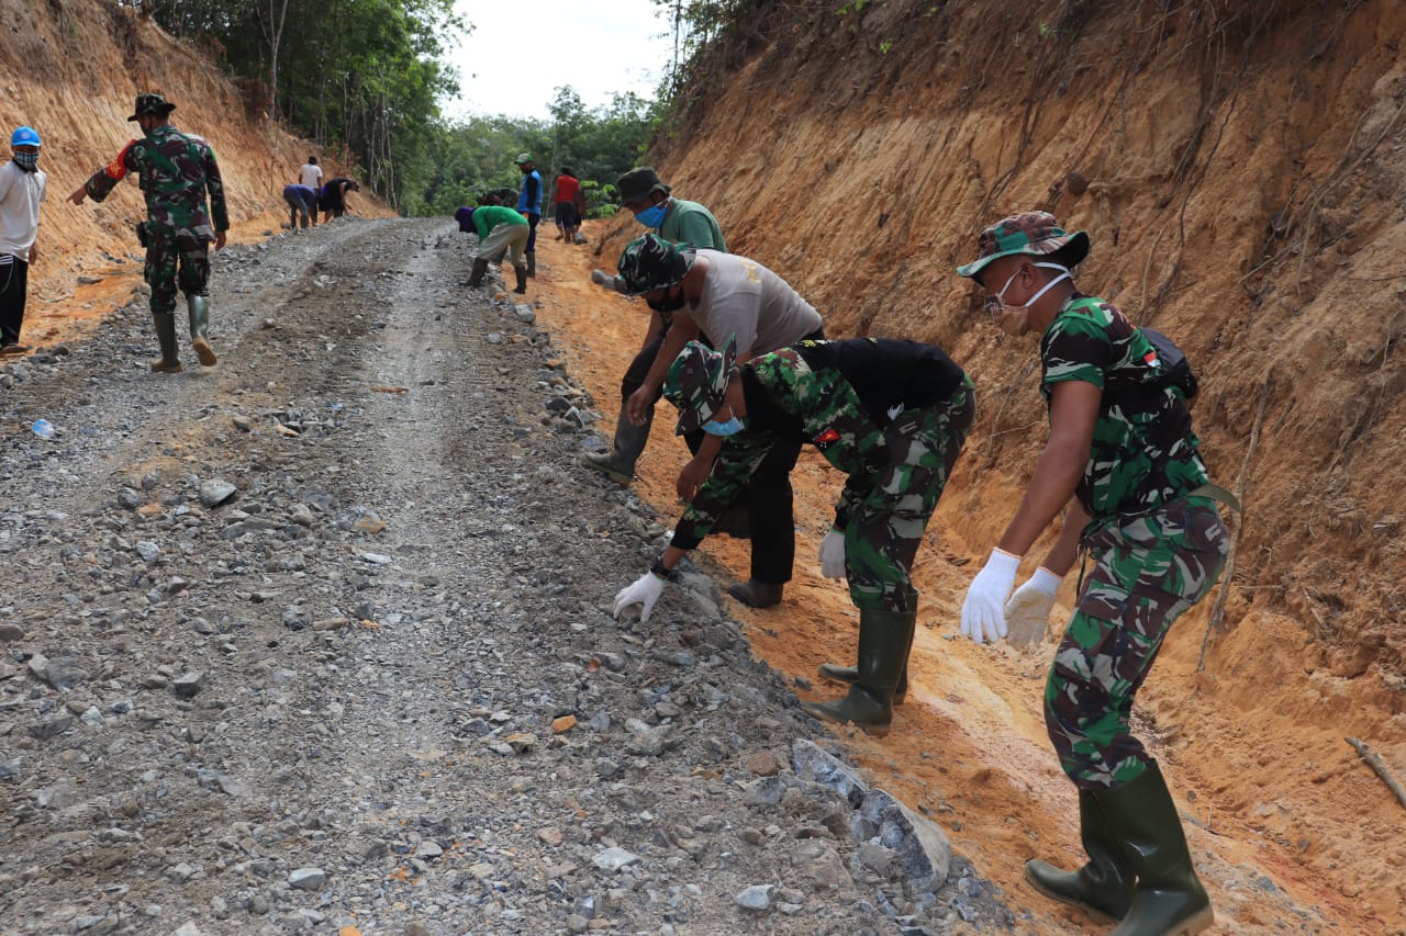
{"type": "MultiPolygon", "coordinates": [[[[75,295],[77,275],[141,270],[132,225],[145,218],[135,180],[103,204],[75,207],[67,195],[121,152],[141,131],[127,122],[138,94],[160,91],[176,104],[177,128],[209,141],[235,229],[233,240],[262,238],[287,219],[283,187],[297,181],[309,153],[322,153],[262,115],[250,115],[238,89],[204,52],[177,42],[131,8],[108,0],[0,0],[0,129],[28,124],[39,131],[39,167],[49,176],[39,218],[39,259],[30,277],[25,340],[42,340],[46,308],[75,295]]],[[[8,152],[8,149],[6,150],[8,152]]],[[[328,176],[352,174],[330,155],[328,176]]],[[[353,209],[391,216],[384,205],[352,195],[353,209]]],[[[101,292],[101,291],[97,291],[101,292]]],[[[84,299],[100,298],[93,290],[84,299]]],[[[84,309],[65,309],[63,315],[84,309]]]]}

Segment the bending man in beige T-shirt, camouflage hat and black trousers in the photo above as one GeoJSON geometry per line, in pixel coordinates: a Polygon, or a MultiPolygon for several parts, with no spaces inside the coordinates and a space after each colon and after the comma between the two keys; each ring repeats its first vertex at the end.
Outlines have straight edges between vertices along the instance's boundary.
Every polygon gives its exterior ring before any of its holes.
{"type": "MultiPolygon", "coordinates": [[[[785,280],[747,257],[648,233],[626,245],[619,270],[626,295],[643,297],[655,312],[673,316],[643,382],[651,396],[662,388],[683,346],[700,336],[735,336],[741,360],[804,339],[824,337],[820,312],[785,280]]],[[[634,419],[643,413],[628,410],[628,416],[634,419]]],[[[679,472],[676,489],[685,502],[693,500],[721,447],[720,437],[704,436],[693,460],[679,472]]],[[[738,500],[747,506],[751,533],[751,578],[733,585],[727,593],[751,607],[778,604],[792,578],[796,521],[790,469],[799,454],[799,441],[778,441],[756,467],[747,489],[738,492],[738,500]]]]}

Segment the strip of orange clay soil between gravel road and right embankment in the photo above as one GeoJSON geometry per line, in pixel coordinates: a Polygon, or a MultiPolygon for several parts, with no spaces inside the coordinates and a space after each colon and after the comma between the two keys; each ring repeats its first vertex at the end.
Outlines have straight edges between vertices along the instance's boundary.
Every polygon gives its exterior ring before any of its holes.
{"type": "MultiPolygon", "coordinates": [[[[617,232],[620,222],[609,228],[617,232]]],[[[606,222],[585,228],[592,242],[606,230],[606,222]]],[[[599,264],[593,243],[569,247],[551,240],[548,229],[543,233],[548,238],[538,240],[529,299],[537,301],[541,325],[554,334],[574,378],[593,394],[605,415],[600,433],[609,438],[620,375],[640,346],[647,311],[640,301],[591,284],[591,268],[599,264]]],[[[681,510],[673,478],[686,450],[669,431],[672,408],[661,408],[636,483],[661,521],[671,523],[681,510]]],[[[1043,427],[1032,433],[1042,436],[1043,427]]],[[[957,472],[972,467],[959,464],[957,472]]],[[[818,453],[803,451],[793,475],[796,578],[786,599],[761,611],[731,603],[756,655],[811,683],[797,687],[803,698],[839,694],[815,676],[815,668],[853,661],[858,613],[842,583],[820,576],[815,558],[842,481],[818,453]]],[[[1011,486],[994,498],[991,512],[1010,514],[1018,493],[1011,486]]],[[[959,853],[1005,890],[1017,912],[1033,915],[1028,922],[1033,932],[1098,930],[1022,880],[1028,857],[1066,866],[1081,859],[1074,788],[1059,770],[1040,714],[1053,638],[1022,654],[1004,644],[974,646],[957,630],[981,550],[950,534],[939,506],[914,569],[922,604],[908,701],[882,741],[856,731],[839,734],[877,783],[921,807],[959,853]]],[[[747,544],[727,537],[706,540],[695,559],[720,585],[747,575],[747,544]]],[[[637,573],[620,569],[620,585],[637,573]]],[[[1060,594],[1056,627],[1069,617],[1071,587],[1067,583],[1060,594]]],[[[1343,743],[1330,713],[1320,711],[1308,724],[1299,724],[1294,711],[1258,713],[1247,722],[1234,701],[1218,694],[1215,677],[1194,673],[1209,604],[1174,628],[1135,718],[1188,819],[1218,932],[1402,932],[1402,807],[1343,743]],[[1313,750],[1327,753],[1315,758],[1308,753],[1313,750]]],[[[1249,638],[1258,631],[1253,641],[1272,644],[1274,624],[1267,618],[1237,634],[1249,638]]],[[[1263,659],[1253,646],[1241,652],[1247,666],[1263,659]]]]}

